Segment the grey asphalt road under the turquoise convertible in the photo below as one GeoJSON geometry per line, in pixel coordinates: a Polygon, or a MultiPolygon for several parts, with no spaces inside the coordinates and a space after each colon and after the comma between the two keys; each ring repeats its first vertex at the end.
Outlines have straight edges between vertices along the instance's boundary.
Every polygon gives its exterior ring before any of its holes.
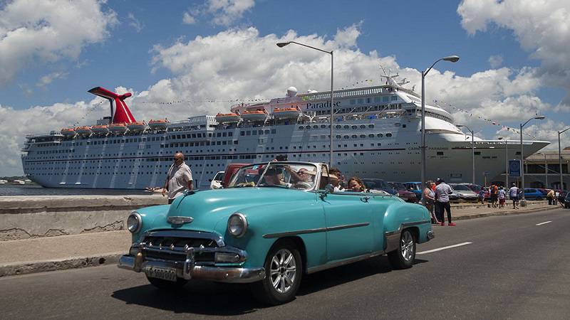
{"type": "Polygon", "coordinates": [[[384,256],[311,274],[281,306],[255,302],[239,284],[160,292],[143,274],[104,266],[2,278],[0,317],[570,318],[570,210],[462,220],[435,236],[418,252],[471,243],[417,255],[408,270],[391,270],[384,256]]]}

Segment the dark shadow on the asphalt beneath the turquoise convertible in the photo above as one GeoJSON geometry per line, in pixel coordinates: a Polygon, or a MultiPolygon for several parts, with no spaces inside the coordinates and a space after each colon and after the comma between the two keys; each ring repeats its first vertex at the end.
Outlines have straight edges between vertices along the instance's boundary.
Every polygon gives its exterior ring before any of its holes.
{"type": "MultiPolygon", "coordinates": [[[[424,262],[427,260],[416,259],[414,264],[424,262]]],[[[305,274],[297,296],[302,297],[375,274],[392,271],[388,257],[384,255],[314,274],[305,274]]],[[[252,314],[258,309],[268,307],[254,299],[247,285],[200,280],[192,280],[177,292],[163,291],[150,284],[145,284],[117,290],[111,294],[111,297],[125,304],[170,310],[175,314],[238,316],[252,314]]]]}

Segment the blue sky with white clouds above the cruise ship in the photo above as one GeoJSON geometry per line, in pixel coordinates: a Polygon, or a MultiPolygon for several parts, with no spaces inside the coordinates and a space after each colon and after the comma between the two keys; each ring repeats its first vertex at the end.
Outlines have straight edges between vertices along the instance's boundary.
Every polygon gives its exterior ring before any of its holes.
{"type": "MultiPolygon", "coordinates": [[[[0,176],[23,174],[26,134],[93,124],[102,86],[138,120],[227,112],[236,102],[381,85],[421,88],[478,137],[553,142],[570,125],[569,0],[0,1],[0,176]]],[[[570,132],[570,131],[569,131],[570,132]]],[[[564,137],[564,136],[563,136],[564,137]]],[[[563,147],[570,145],[564,137],[563,147]]]]}

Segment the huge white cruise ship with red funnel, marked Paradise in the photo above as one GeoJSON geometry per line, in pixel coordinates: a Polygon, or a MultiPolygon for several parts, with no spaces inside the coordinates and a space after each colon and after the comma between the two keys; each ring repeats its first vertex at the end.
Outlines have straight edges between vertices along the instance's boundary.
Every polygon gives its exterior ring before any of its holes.
{"type": "MultiPolygon", "coordinates": [[[[421,100],[395,76],[385,85],[336,90],[333,106],[333,166],[348,178],[420,180],[421,100]]],[[[331,92],[298,94],[239,104],[225,114],[137,121],[118,95],[95,87],[90,93],[107,99],[110,116],[97,124],[68,127],[48,134],[29,134],[21,150],[24,173],[51,188],[134,188],[164,184],[172,156],[185,154],[195,186],[232,162],[329,161],[331,92]]],[[[429,179],[471,182],[471,135],[452,115],[425,105],[429,179]]],[[[524,156],[549,142],[524,141],[524,156]]],[[[519,141],[475,137],[475,183],[502,174],[505,160],[518,159],[519,141]]]]}

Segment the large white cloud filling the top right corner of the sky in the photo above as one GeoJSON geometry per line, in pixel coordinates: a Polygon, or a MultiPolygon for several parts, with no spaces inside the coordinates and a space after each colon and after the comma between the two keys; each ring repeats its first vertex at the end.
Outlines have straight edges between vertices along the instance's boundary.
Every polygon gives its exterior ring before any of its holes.
{"type": "Polygon", "coordinates": [[[568,0],[463,0],[457,7],[470,35],[489,25],[512,30],[524,50],[541,61],[537,73],[566,90],[570,105],[570,4],[568,0]]]}

